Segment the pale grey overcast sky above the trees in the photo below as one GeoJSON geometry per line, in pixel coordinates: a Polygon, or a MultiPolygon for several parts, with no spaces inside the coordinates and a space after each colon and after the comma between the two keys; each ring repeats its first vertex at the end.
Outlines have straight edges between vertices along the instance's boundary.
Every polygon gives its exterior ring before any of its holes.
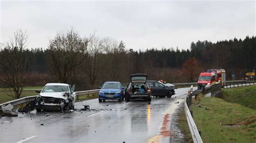
{"type": "Polygon", "coordinates": [[[1,1],[1,37],[18,29],[29,48],[47,48],[57,32],[123,40],[126,48],[190,48],[192,41],[255,35],[255,1],[1,1]]]}

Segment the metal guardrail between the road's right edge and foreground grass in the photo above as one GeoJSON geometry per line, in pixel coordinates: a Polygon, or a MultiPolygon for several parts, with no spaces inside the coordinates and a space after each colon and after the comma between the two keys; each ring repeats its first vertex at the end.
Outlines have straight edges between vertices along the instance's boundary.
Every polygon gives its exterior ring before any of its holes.
{"type": "Polygon", "coordinates": [[[203,142],[201,139],[201,136],[197,130],[197,125],[194,123],[193,117],[191,115],[190,109],[188,108],[188,105],[191,105],[192,103],[192,94],[193,94],[193,85],[191,85],[190,94],[186,96],[184,99],[184,106],[185,106],[185,115],[187,118],[188,126],[190,127],[190,132],[192,135],[193,142],[203,142]]]}

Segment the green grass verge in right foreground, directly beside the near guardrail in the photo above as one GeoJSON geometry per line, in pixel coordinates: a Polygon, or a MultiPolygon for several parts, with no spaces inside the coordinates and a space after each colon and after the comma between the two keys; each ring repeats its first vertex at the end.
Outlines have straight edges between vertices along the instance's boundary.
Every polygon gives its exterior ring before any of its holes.
{"type": "Polygon", "coordinates": [[[193,103],[193,119],[204,142],[256,142],[256,110],[215,97],[193,103]]]}

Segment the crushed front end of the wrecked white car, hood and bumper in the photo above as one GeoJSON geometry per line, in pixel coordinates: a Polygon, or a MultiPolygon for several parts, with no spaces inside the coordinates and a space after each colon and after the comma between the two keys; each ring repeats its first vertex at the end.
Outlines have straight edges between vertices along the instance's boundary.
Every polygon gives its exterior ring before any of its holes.
{"type": "Polygon", "coordinates": [[[36,109],[44,111],[67,111],[72,107],[70,94],[66,92],[55,93],[55,95],[40,94],[36,99],[36,109]]]}

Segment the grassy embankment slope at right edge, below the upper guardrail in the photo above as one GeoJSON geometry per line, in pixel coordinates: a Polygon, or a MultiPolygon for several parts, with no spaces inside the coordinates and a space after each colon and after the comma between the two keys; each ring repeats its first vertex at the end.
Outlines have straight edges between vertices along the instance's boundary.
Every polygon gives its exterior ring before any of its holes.
{"type": "Polygon", "coordinates": [[[248,108],[256,109],[256,85],[225,89],[220,98],[227,102],[239,103],[248,108]]]}

